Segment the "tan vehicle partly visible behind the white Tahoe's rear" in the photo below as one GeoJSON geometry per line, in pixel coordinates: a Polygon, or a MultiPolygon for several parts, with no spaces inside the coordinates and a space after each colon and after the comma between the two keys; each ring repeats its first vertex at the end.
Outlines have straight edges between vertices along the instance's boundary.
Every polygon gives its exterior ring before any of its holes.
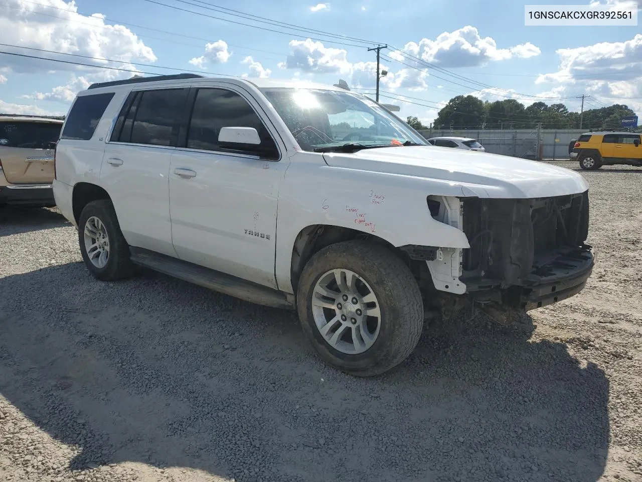
{"type": "Polygon", "coordinates": [[[0,206],[55,206],[53,154],[62,120],[0,116],[0,206]]]}

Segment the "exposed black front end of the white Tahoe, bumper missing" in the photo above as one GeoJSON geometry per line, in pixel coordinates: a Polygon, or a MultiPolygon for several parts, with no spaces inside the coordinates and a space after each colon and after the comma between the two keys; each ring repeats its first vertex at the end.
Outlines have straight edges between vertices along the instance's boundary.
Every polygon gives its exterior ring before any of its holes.
{"type": "MultiPolygon", "coordinates": [[[[449,210],[453,202],[444,207],[445,200],[429,197],[431,215],[458,225],[470,247],[451,253],[459,258],[459,276],[451,279],[465,287],[465,294],[440,297],[442,310],[454,303],[460,309],[479,309],[500,323],[510,323],[528,310],[574,296],[586,285],[594,264],[591,246],[585,244],[587,191],[537,199],[463,198],[458,200],[457,220],[449,210]]],[[[435,280],[438,260],[428,265],[435,280]]],[[[453,275],[454,267],[453,259],[453,275]]]]}

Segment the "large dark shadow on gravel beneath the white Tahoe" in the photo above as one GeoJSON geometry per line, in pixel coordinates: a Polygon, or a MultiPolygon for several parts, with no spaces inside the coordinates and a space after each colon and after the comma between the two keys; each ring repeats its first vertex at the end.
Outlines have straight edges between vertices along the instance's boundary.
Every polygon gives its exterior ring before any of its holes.
{"type": "Polygon", "coordinates": [[[605,467],[605,374],[530,341],[529,317],[431,326],[397,370],[355,379],[313,355],[292,314],[160,274],[100,283],[71,263],[2,278],[0,292],[0,393],[82,449],[68,469],[591,482],[605,467]]]}

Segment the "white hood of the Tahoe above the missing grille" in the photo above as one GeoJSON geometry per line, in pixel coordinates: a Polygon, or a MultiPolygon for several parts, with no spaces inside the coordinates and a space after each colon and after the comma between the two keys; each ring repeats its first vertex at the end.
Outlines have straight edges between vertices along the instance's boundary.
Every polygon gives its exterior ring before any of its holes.
{"type": "Polygon", "coordinates": [[[324,159],[332,167],[457,183],[473,191],[468,195],[479,197],[524,199],[575,194],[588,189],[580,174],[563,167],[449,147],[385,147],[352,154],[326,152],[324,159]]]}

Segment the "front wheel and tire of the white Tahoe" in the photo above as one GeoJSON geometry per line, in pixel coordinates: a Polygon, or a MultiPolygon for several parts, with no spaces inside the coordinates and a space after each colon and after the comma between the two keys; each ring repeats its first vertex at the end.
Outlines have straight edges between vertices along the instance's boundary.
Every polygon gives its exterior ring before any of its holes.
{"type": "Polygon", "coordinates": [[[419,343],[424,305],[410,268],[383,246],[329,245],[306,264],[297,310],[327,363],[372,377],[403,362],[419,343]]]}

